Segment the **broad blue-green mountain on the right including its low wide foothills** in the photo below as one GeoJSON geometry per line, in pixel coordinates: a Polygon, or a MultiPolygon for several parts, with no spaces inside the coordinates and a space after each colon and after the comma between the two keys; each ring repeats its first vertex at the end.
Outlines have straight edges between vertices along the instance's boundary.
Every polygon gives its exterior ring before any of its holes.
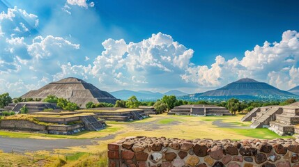
{"type": "MultiPolygon", "coordinates": [[[[299,90],[299,88],[298,88],[299,90]]],[[[268,97],[296,97],[293,93],[280,90],[274,86],[270,86],[264,82],[259,82],[254,79],[240,79],[234,81],[227,86],[215,90],[209,90],[204,93],[195,93],[188,95],[194,100],[205,98],[229,98],[236,97],[240,99],[259,99],[268,97]]],[[[186,98],[184,98],[186,100],[186,98]]]]}

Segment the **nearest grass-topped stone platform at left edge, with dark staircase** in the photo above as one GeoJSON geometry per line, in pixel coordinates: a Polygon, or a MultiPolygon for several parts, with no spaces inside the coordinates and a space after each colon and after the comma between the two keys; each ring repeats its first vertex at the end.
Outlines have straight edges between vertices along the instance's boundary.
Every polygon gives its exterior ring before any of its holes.
{"type": "Polygon", "coordinates": [[[38,132],[43,134],[75,134],[84,130],[105,129],[105,120],[93,113],[37,112],[4,117],[0,129],[38,132]]]}

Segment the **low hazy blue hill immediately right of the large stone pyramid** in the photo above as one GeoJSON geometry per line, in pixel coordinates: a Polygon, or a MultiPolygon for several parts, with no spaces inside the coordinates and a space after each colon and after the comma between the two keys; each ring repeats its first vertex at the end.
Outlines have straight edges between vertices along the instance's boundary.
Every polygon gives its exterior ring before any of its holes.
{"type": "Polygon", "coordinates": [[[114,97],[118,97],[121,100],[128,100],[131,96],[135,95],[138,100],[158,100],[163,97],[162,93],[153,93],[151,91],[140,90],[140,91],[132,91],[132,90],[117,90],[115,92],[111,92],[114,97]]]}

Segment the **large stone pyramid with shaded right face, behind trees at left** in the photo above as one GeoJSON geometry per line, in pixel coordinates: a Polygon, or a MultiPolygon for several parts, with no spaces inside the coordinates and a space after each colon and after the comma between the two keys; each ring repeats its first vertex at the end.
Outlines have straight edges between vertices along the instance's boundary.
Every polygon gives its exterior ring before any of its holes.
{"type": "Polygon", "coordinates": [[[85,106],[87,102],[107,102],[115,104],[116,99],[113,95],[102,91],[92,84],[74,77],[54,81],[38,90],[31,90],[22,95],[22,98],[41,98],[45,99],[48,95],[63,97],[70,102],[75,102],[79,106],[85,106]]]}

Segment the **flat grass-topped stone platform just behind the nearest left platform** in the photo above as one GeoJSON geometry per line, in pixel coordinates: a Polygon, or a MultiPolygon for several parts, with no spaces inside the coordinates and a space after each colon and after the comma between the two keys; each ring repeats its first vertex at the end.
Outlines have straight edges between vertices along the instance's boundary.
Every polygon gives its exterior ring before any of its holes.
{"type": "Polygon", "coordinates": [[[148,114],[143,109],[126,109],[118,107],[102,107],[93,109],[82,109],[79,112],[95,113],[104,120],[132,121],[148,118],[148,114]]]}

